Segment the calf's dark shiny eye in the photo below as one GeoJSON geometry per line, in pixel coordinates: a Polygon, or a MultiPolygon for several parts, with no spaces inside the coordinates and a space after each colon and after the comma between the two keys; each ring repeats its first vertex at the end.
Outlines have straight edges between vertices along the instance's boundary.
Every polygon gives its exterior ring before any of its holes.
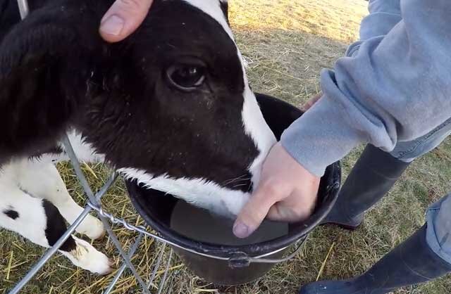
{"type": "Polygon", "coordinates": [[[173,65],[166,75],[173,86],[183,91],[193,91],[205,82],[205,68],[198,65],[173,65]]]}

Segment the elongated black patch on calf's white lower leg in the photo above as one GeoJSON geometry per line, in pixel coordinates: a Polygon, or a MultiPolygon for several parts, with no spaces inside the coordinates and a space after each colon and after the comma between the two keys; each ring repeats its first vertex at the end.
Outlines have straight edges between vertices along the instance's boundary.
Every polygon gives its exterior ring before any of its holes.
{"type": "MultiPolygon", "coordinates": [[[[47,200],[42,200],[42,207],[44,207],[44,212],[47,217],[47,228],[45,229],[45,236],[50,246],[55,245],[56,241],[63,236],[66,232],[66,222],[63,216],[58,211],[55,205],[47,200]]],[[[69,238],[63,243],[60,250],[70,252],[77,248],[75,240],[69,236],[69,238]]]]}

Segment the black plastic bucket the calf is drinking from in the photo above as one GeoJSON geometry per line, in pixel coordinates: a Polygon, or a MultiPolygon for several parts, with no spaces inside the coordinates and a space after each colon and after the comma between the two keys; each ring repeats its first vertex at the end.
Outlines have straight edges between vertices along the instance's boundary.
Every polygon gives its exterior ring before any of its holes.
{"type": "MultiPolygon", "coordinates": [[[[278,139],[302,115],[298,108],[276,98],[257,94],[257,99],[266,122],[278,139]]],[[[306,222],[290,224],[288,234],[280,238],[241,246],[204,243],[178,234],[170,226],[171,214],[179,201],[177,198],[143,188],[135,181],[127,181],[126,184],[137,212],[152,229],[172,244],[175,253],[194,274],[209,283],[232,286],[259,279],[274,264],[282,261],[280,258],[292,251],[295,244],[302,244],[335,204],[340,181],[340,162],[336,162],[327,168],[321,179],[316,210],[306,222]]]]}

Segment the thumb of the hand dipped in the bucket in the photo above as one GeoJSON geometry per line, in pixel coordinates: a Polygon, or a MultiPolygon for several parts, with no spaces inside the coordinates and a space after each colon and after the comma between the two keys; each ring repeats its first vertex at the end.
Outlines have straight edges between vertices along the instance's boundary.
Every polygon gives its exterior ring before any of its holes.
{"type": "Polygon", "coordinates": [[[238,238],[247,238],[255,230],[257,230],[264,221],[268,211],[276,203],[273,200],[275,196],[273,193],[268,193],[265,188],[257,188],[245,207],[242,208],[240,214],[237,216],[237,220],[233,225],[233,234],[238,238]],[[271,196],[271,197],[268,197],[271,196]]]}

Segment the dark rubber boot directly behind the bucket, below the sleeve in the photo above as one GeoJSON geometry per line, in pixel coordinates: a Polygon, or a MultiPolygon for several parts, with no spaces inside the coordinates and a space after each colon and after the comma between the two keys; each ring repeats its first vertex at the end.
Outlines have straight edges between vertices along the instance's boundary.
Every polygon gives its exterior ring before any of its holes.
{"type": "Polygon", "coordinates": [[[357,229],[364,220],[364,212],[390,191],[408,166],[409,163],[379,148],[366,146],[343,184],[337,203],[321,224],[357,229]]]}

